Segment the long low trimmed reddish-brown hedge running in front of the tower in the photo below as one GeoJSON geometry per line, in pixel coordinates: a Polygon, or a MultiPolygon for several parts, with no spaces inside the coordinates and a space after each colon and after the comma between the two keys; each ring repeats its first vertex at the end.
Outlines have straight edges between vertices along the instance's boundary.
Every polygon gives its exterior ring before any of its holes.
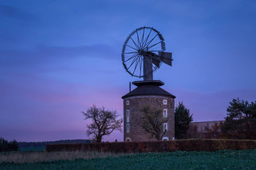
{"type": "Polygon", "coordinates": [[[256,149],[256,140],[184,139],[157,142],[111,142],[90,144],[51,144],[46,151],[99,152],[163,152],[163,151],[218,151],[256,149]]]}

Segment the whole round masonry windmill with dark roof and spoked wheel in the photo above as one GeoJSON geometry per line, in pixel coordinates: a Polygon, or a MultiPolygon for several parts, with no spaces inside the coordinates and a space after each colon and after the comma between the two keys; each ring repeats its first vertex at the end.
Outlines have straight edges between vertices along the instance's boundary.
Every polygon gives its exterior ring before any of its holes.
{"type": "Polygon", "coordinates": [[[133,31],[123,44],[123,67],[132,76],[143,77],[143,81],[133,82],[133,91],[123,98],[123,141],[156,140],[142,128],[142,107],[150,106],[163,110],[163,140],[175,136],[174,99],[175,96],[160,88],[160,80],[153,80],[153,72],[161,63],[172,66],[172,53],[163,52],[163,37],[154,28],[142,27],[133,31]],[[156,54],[158,52],[158,54],[156,54]]]}

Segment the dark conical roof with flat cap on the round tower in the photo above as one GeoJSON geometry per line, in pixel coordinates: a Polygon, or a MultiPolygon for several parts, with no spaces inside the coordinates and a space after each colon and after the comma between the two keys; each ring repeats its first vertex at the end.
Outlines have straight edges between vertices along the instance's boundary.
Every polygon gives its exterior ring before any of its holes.
{"type": "Polygon", "coordinates": [[[162,95],[167,97],[175,98],[174,95],[170,94],[168,91],[163,90],[160,88],[160,85],[163,85],[163,82],[159,80],[153,81],[136,81],[133,82],[133,85],[138,86],[130,93],[124,95],[122,99],[126,97],[133,97],[133,96],[143,96],[143,95],[162,95]]]}

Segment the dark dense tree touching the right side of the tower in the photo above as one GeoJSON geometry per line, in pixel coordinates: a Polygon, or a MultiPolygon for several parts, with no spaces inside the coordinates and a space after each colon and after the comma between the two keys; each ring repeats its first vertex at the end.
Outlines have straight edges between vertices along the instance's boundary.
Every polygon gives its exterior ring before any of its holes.
{"type": "Polygon", "coordinates": [[[184,139],[189,128],[190,122],[193,121],[189,109],[184,104],[178,103],[175,107],[175,139],[184,139]]]}

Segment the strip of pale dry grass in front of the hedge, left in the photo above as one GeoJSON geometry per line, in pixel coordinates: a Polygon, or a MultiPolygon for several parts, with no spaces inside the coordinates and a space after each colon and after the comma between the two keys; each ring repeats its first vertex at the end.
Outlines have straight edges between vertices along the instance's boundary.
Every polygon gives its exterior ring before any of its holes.
{"type": "Polygon", "coordinates": [[[131,154],[114,154],[100,152],[83,152],[83,151],[61,151],[61,152],[11,152],[1,153],[0,163],[36,163],[53,160],[75,160],[75,159],[93,159],[102,157],[120,157],[131,154]]]}

